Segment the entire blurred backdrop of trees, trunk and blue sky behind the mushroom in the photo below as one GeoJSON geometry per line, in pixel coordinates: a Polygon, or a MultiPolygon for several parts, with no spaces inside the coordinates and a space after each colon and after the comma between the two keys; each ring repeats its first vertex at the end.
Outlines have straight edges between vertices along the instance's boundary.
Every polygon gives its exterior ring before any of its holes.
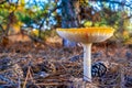
{"type": "Polygon", "coordinates": [[[112,26],[114,38],[127,43],[132,40],[131,4],[131,0],[0,0],[0,35],[24,30],[43,38],[56,28],[112,26]]]}

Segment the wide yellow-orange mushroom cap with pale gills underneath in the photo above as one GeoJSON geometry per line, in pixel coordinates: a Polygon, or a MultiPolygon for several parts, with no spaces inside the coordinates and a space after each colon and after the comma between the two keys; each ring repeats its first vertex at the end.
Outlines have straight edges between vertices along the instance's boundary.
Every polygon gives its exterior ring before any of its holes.
{"type": "Polygon", "coordinates": [[[57,29],[58,35],[78,43],[103,42],[113,35],[112,28],[57,29]]]}

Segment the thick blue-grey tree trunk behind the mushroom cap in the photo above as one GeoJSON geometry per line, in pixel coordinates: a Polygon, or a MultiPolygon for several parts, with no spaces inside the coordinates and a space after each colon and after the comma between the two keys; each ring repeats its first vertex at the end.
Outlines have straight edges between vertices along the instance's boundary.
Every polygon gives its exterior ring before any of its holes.
{"type": "MultiPolygon", "coordinates": [[[[79,2],[76,0],[62,0],[62,28],[77,28],[79,2]]],[[[76,46],[75,42],[63,40],[64,46],[76,46]]]]}

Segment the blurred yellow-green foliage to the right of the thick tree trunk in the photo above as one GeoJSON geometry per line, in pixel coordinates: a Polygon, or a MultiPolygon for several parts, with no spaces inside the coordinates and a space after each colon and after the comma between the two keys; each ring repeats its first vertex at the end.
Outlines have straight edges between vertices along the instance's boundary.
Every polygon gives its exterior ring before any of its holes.
{"type": "Polygon", "coordinates": [[[112,26],[116,29],[114,38],[119,42],[124,43],[132,40],[131,3],[132,1],[124,0],[91,0],[88,2],[87,8],[81,8],[82,24],[84,26],[112,26]]]}

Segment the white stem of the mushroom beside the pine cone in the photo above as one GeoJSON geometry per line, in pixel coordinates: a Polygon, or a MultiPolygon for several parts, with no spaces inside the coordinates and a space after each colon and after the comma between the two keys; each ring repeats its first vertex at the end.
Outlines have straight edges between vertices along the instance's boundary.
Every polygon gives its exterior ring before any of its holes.
{"type": "Polygon", "coordinates": [[[91,43],[84,44],[84,80],[91,81],[91,43]]]}

